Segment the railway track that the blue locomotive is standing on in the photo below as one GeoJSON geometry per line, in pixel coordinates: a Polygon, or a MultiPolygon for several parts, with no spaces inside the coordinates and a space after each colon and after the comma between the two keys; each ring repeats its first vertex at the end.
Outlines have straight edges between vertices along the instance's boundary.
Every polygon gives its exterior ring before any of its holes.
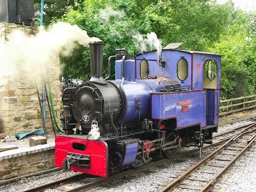
{"type": "MultiPolygon", "coordinates": [[[[251,123],[250,126],[251,125],[253,125],[253,124],[251,123]]],[[[245,128],[246,126],[248,126],[248,125],[243,125],[243,126],[240,126],[240,127],[236,127],[236,128],[234,128],[232,130],[229,130],[229,131],[226,131],[226,132],[223,132],[223,133],[220,133],[220,134],[216,134],[214,136],[215,138],[217,138],[219,136],[222,136],[222,138],[219,141],[217,141],[214,144],[212,144],[212,145],[206,145],[206,146],[202,147],[201,150],[203,151],[203,150],[205,150],[207,148],[216,147],[216,146],[224,143],[225,141],[230,139],[230,136],[223,137],[223,135],[230,134],[232,132],[238,131],[240,129],[245,128]]],[[[237,136],[238,134],[239,133],[232,134],[232,135],[237,136]]],[[[49,182],[49,183],[46,183],[46,184],[41,185],[41,186],[37,186],[37,187],[31,188],[31,189],[27,189],[27,190],[24,190],[23,192],[25,192],[25,191],[26,192],[29,192],[29,191],[43,191],[43,190],[46,190],[46,189],[49,189],[49,188],[62,189],[62,190],[65,190],[65,191],[88,190],[88,189],[100,186],[100,185],[102,185],[102,183],[109,183],[109,182],[112,182],[115,179],[121,179],[121,178],[124,178],[126,176],[131,176],[131,175],[134,175],[136,173],[141,172],[142,170],[146,170],[146,169],[149,169],[149,168],[161,165],[163,163],[166,163],[166,162],[174,160],[174,159],[180,159],[180,158],[185,157],[185,156],[187,156],[189,154],[198,153],[199,151],[200,151],[200,148],[196,148],[195,150],[185,151],[185,152],[182,152],[179,155],[175,155],[172,158],[161,159],[161,160],[152,162],[150,164],[146,164],[146,165],[144,165],[144,166],[142,166],[142,167],[140,167],[138,169],[126,170],[126,171],[124,171],[122,173],[110,176],[108,178],[97,178],[97,177],[96,178],[95,177],[88,178],[88,175],[86,175],[86,174],[77,174],[77,175],[74,175],[74,176],[71,176],[71,177],[68,177],[68,178],[65,178],[65,179],[49,182]],[[81,182],[80,186],[75,187],[75,188],[74,187],[72,187],[72,188],[65,187],[65,184],[68,184],[68,183],[71,183],[71,182],[74,182],[74,181],[80,181],[81,182]]]]}

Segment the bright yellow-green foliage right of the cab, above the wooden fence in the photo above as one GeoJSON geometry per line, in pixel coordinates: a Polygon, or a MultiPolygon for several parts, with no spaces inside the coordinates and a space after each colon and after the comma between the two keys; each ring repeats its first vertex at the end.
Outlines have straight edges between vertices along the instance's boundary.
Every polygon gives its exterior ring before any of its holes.
{"type": "Polygon", "coordinates": [[[226,34],[210,49],[222,54],[222,98],[255,94],[256,90],[256,14],[241,10],[233,13],[226,34]]]}

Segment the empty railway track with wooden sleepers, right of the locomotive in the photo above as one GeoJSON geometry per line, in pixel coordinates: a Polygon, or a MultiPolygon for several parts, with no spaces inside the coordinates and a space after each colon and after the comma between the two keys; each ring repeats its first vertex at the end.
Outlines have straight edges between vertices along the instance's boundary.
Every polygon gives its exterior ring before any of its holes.
{"type": "Polygon", "coordinates": [[[236,161],[255,141],[256,123],[253,123],[242,130],[238,135],[234,135],[226,143],[218,147],[204,159],[199,161],[193,167],[180,175],[177,179],[167,184],[161,192],[177,189],[195,189],[200,191],[209,191],[212,184],[220,178],[226,170],[236,161]],[[250,138],[248,138],[248,136],[250,138]],[[223,156],[226,156],[223,158],[223,156]],[[206,173],[207,178],[200,175],[206,173]],[[188,182],[188,181],[191,182],[188,182]],[[190,183],[197,183],[192,185],[190,183]],[[198,184],[200,182],[200,184],[198,184]]]}

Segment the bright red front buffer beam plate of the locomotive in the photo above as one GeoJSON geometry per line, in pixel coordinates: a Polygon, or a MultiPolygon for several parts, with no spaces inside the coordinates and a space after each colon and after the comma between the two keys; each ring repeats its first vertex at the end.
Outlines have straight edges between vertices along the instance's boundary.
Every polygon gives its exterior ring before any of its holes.
{"type": "Polygon", "coordinates": [[[90,155],[90,168],[73,166],[71,170],[100,177],[108,177],[108,144],[100,140],[88,140],[69,136],[57,136],[55,138],[55,166],[62,168],[62,162],[68,153],[90,155]],[[86,150],[75,150],[73,143],[86,143],[86,150]]]}

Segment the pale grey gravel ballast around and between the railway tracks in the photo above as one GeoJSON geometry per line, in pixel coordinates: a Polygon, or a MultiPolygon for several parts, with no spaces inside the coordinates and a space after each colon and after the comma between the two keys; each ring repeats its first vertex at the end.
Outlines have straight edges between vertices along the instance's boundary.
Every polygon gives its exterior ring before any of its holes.
{"type": "MultiPolygon", "coordinates": [[[[220,124],[231,123],[230,119],[236,118],[246,118],[250,116],[256,115],[256,110],[249,111],[248,113],[240,113],[238,116],[230,115],[229,117],[221,118],[220,124]],[[223,120],[222,120],[223,119],[223,120]]],[[[219,132],[226,131],[228,129],[232,129],[233,127],[237,127],[241,124],[245,124],[248,122],[239,122],[234,123],[232,125],[226,125],[219,127],[219,132]]],[[[49,138],[48,143],[54,142],[54,138],[49,138]]],[[[1,143],[6,144],[6,143],[1,143]]],[[[29,139],[22,139],[19,141],[15,141],[9,144],[14,144],[20,147],[26,147],[29,144],[29,139]]],[[[223,176],[221,181],[217,181],[214,187],[226,189],[226,191],[254,191],[256,188],[256,146],[254,145],[254,149],[252,148],[246,155],[241,157],[239,161],[223,176]],[[250,163],[248,163],[250,162],[250,163]],[[223,180],[225,182],[223,183],[223,180]]],[[[206,155],[207,150],[202,152],[202,158],[206,155]]],[[[223,156],[224,157],[224,156],[223,156]]],[[[225,156],[226,157],[226,156],[225,156]]],[[[190,155],[189,157],[183,158],[177,161],[171,161],[165,163],[163,165],[159,165],[157,167],[144,170],[138,174],[133,176],[127,176],[123,179],[118,179],[113,181],[110,184],[102,183],[101,186],[93,188],[89,191],[159,191],[162,189],[167,182],[174,180],[173,175],[180,175],[183,173],[183,168],[188,168],[192,166],[193,162],[199,161],[200,155],[199,153],[195,155],[190,155]]],[[[206,167],[207,168],[207,167],[206,167]]],[[[19,191],[20,188],[22,190],[26,188],[31,188],[33,186],[37,186],[43,183],[47,183],[49,181],[54,181],[59,178],[65,178],[71,175],[77,174],[75,172],[59,170],[54,173],[49,173],[41,176],[34,176],[31,178],[24,178],[17,182],[5,184],[1,186],[1,191],[19,191]]],[[[205,177],[210,177],[210,174],[204,174],[205,177]]],[[[200,184],[200,182],[196,182],[196,184],[200,184]]],[[[73,183],[71,185],[79,185],[79,183],[73,183]]],[[[50,189],[47,191],[59,191],[57,189],[50,189]]],[[[178,191],[178,190],[177,190],[178,191]]],[[[193,191],[193,190],[184,190],[184,191],[193,191]]]]}

